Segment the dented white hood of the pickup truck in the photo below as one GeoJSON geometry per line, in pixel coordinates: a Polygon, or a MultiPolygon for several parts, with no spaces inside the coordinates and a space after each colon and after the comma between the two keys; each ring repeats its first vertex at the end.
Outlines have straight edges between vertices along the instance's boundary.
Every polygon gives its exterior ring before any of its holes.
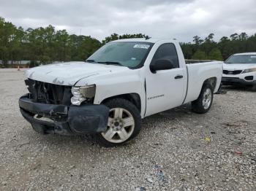
{"type": "Polygon", "coordinates": [[[75,85],[80,79],[129,70],[127,67],[97,63],[67,62],[38,66],[26,71],[26,77],[56,85],[75,85]]]}

